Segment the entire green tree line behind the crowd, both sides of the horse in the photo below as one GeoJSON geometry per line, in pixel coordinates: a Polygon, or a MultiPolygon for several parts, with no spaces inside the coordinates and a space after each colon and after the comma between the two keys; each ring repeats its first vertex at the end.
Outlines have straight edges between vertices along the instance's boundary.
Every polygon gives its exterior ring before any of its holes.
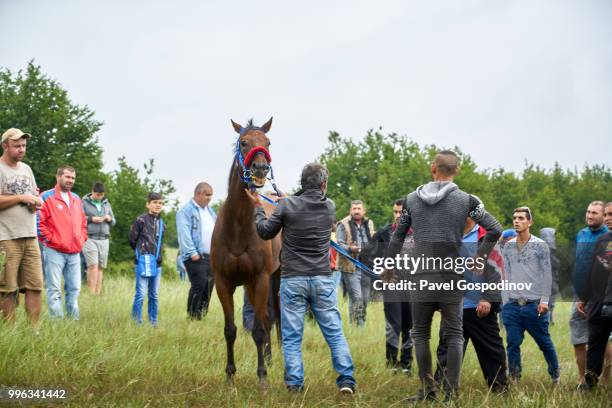
{"type": "MultiPolygon", "coordinates": [[[[0,69],[0,130],[18,127],[34,134],[29,141],[27,163],[32,167],[42,190],[55,185],[55,170],[70,164],[77,170],[74,191],[88,193],[95,181],[107,188],[117,225],[112,231],[110,258],[128,260],[132,251],[127,242],[132,221],[143,211],[148,191],[171,197],[171,180],[154,175],[153,159],[142,167],[118,159],[115,170],[103,170],[103,148],[97,133],[103,122],[88,106],[73,103],[61,84],[46,76],[40,66],[30,61],[24,70],[0,69]]],[[[328,145],[319,157],[330,171],[328,196],[337,207],[337,218],[348,214],[351,200],[365,202],[368,216],[378,226],[392,219],[396,198],[431,179],[429,163],[439,147],[420,146],[406,136],[370,130],[360,140],[330,132],[328,145]]],[[[607,164],[564,169],[555,164],[545,169],[526,164],[518,173],[503,168],[481,170],[469,154],[454,147],[461,159],[456,183],[476,194],[505,228],[512,226],[512,210],[528,205],[534,213],[533,231],[542,227],[557,229],[561,246],[573,242],[584,226],[585,209],[593,200],[610,200],[612,172],[607,164]]],[[[290,188],[290,186],[285,186],[290,188]]],[[[163,213],[168,244],[177,246],[175,215],[178,207],[171,200],[163,213]]],[[[220,205],[216,203],[216,207],[220,205]]]]}

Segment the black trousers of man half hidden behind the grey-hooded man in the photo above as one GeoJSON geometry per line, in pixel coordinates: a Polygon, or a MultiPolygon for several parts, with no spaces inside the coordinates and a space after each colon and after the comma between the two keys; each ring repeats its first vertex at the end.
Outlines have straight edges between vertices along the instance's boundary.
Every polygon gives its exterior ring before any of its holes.
{"type": "MultiPolygon", "coordinates": [[[[463,309],[463,355],[467,350],[468,342],[472,340],[480,369],[489,387],[503,388],[508,383],[506,375],[506,350],[499,334],[497,313],[490,312],[480,318],[475,308],[463,309]]],[[[438,368],[435,378],[440,383],[444,380],[446,367],[446,343],[440,331],[440,344],[438,345],[438,368]]]]}

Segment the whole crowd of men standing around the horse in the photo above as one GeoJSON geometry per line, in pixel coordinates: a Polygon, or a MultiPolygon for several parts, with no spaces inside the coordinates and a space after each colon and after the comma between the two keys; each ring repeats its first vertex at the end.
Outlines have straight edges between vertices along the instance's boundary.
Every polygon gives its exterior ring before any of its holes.
{"type": "MultiPolygon", "coordinates": [[[[62,280],[65,314],[79,319],[81,256],[90,292],[101,294],[110,231],[116,220],[102,183],[95,183],[82,200],[72,192],[76,170],[71,166],[60,166],[55,187],[40,193],[32,170],[23,162],[30,138],[15,128],[2,135],[0,307],[5,319],[14,320],[19,292],[24,293],[27,316],[36,327],[43,290],[49,316],[64,317],[62,280]]],[[[456,398],[470,340],[490,389],[506,392],[510,381],[518,382],[521,377],[520,347],[525,331],[542,351],[552,384],[559,382],[559,361],[549,333],[555,294],[554,230],[542,232],[546,240],[532,234],[534,214],[523,206],[512,214],[513,228],[502,231],[484,203],[454,183],[458,172],[457,155],[439,152],[431,164],[433,181],[393,202],[393,222],[379,231],[366,217],[360,200],[352,201],[348,216],[336,223],[335,205],[325,196],[329,174],[320,164],[304,167],[300,192],[279,197],[269,218],[257,193],[246,192],[254,204],[255,227],[262,239],[271,239],[283,230],[282,250],[295,254],[288,258],[295,263],[281,265],[279,294],[285,381],[290,391],[299,392],[304,385],[301,344],[304,316],[310,310],[330,347],[340,391],[355,392],[353,360],[342,330],[337,289],[341,283],[348,296],[350,322],[363,326],[374,292],[373,276],[355,260],[398,254],[485,261],[461,274],[435,263],[410,273],[387,269],[382,274],[385,282],[405,279],[436,284],[435,289],[383,291],[387,365],[410,375],[414,349],[421,389],[413,400],[436,400],[440,390],[446,400],[456,398]],[[332,251],[330,259],[329,237],[334,229],[335,240],[349,257],[332,251]],[[316,237],[313,231],[317,231],[316,237]],[[523,289],[464,292],[455,285],[460,279],[473,284],[520,283],[523,289]],[[429,340],[435,312],[441,314],[441,325],[434,372],[429,340]],[[506,346],[498,323],[500,313],[506,346]]],[[[176,217],[177,264],[190,281],[187,314],[193,320],[206,315],[214,287],[209,261],[216,221],[210,206],[212,195],[210,184],[199,183],[193,199],[176,217]]],[[[142,323],[142,307],[148,297],[148,319],[154,326],[158,322],[165,232],[160,217],[163,204],[159,193],[149,193],[147,211],[136,218],[129,234],[136,279],[132,317],[142,323]]],[[[580,390],[596,387],[602,373],[607,381],[612,360],[610,356],[605,359],[606,353],[612,352],[612,202],[590,203],[586,221],[576,238],[575,300],[570,320],[580,390]]]]}

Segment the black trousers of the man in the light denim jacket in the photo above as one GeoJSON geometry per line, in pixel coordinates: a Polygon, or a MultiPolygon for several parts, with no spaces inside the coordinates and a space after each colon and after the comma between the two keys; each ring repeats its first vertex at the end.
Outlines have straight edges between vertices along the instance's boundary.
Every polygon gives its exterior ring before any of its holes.
{"type": "Polygon", "coordinates": [[[199,260],[185,261],[185,269],[191,287],[187,297],[187,313],[192,319],[200,320],[208,312],[208,304],[214,287],[214,278],[210,269],[210,258],[203,255],[199,260]]]}

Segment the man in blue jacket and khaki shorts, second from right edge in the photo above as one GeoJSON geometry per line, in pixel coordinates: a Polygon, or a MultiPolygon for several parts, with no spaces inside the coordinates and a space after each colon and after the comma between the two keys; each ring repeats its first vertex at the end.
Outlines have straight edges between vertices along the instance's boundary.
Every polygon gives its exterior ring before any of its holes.
{"type": "MultiPolygon", "coordinates": [[[[584,291],[587,275],[591,270],[595,242],[608,232],[608,227],[604,224],[603,201],[593,201],[589,204],[585,220],[587,226],[578,231],[576,235],[576,263],[572,276],[575,295],[584,291]]],[[[572,315],[570,317],[570,340],[574,345],[574,355],[578,366],[578,386],[583,387],[585,384],[589,327],[584,314],[577,310],[575,301],[572,303],[572,315]]]]}

